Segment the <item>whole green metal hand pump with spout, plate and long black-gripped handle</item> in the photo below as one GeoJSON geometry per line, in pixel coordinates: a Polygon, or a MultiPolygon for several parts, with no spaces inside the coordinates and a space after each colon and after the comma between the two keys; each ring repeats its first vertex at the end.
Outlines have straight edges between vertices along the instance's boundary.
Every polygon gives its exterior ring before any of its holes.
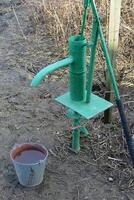
{"type": "Polygon", "coordinates": [[[121,124],[124,130],[124,135],[126,137],[128,150],[134,165],[134,142],[127,125],[124,107],[120,99],[112,64],[102,31],[101,20],[97,12],[94,0],[84,0],[84,14],[81,34],[73,35],[69,38],[69,56],[42,69],[33,78],[31,85],[37,87],[41,84],[46,75],[60,68],[69,67],[69,91],[64,95],[57,97],[56,101],[68,108],[67,116],[73,120],[71,149],[74,152],[79,152],[80,134],[82,133],[85,136],[89,134],[88,130],[81,125],[81,118],[91,119],[113,105],[111,102],[108,102],[92,93],[95,55],[98,38],[100,38],[101,41],[102,50],[104,52],[109,76],[111,78],[116,97],[117,107],[121,117],[121,124]],[[90,43],[87,42],[84,36],[87,11],[89,9],[92,9],[93,14],[92,35],[90,43]],[[87,48],[90,48],[88,80],[86,80],[87,48]]]}

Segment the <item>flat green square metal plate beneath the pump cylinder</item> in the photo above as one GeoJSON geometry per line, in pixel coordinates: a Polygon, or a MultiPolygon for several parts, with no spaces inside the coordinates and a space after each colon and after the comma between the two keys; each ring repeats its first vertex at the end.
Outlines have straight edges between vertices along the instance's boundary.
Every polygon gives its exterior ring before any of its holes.
{"type": "Polygon", "coordinates": [[[94,94],[91,94],[90,103],[86,103],[85,101],[73,101],[70,98],[69,92],[57,97],[55,100],[79,113],[86,119],[93,118],[94,116],[113,106],[111,102],[106,101],[105,99],[102,99],[94,94]]]}

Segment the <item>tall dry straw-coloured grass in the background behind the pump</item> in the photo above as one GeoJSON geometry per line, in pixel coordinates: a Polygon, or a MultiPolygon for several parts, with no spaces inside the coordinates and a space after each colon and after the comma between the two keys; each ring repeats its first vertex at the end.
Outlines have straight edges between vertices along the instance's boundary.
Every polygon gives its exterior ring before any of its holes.
{"type": "MultiPolygon", "coordinates": [[[[107,40],[108,19],[109,19],[109,0],[98,0],[97,8],[102,16],[102,25],[107,40]]],[[[81,31],[81,22],[83,14],[83,1],[80,0],[41,0],[40,2],[27,2],[32,8],[31,18],[36,26],[36,31],[40,32],[43,28],[43,34],[47,34],[55,41],[60,56],[66,56],[68,53],[68,38],[72,34],[79,34],[81,31]],[[40,26],[41,25],[41,26],[40,26]]],[[[133,73],[133,0],[123,0],[121,11],[121,25],[119,36],[119,49],[117,59],[117,71],[119,81],[126,84],[128,76],[128,85],[133,82],[131,72],[133,73]]],[[[92,13],[89,12],[86,26],[86,36],[89,39],[92,28],[92,13]]],[[[97,50],[97,69],[104,69],[105,62],[99,44],[97,50]]],[[[102,73],[102,79],[103,79],[102,73]]],[[[133,83],[132,83],[133,84],[133,83]]]]}

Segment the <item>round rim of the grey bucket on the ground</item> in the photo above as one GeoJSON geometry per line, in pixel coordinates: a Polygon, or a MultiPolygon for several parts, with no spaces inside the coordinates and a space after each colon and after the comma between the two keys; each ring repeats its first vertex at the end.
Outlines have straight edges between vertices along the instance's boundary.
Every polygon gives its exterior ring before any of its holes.
{"type": "Polygon", "coordinates": [[[39,164],[39,163],[43,163],[43,162],[45,162],[45,160],[47,160],[47,157],[48,157],[48,150],[47,150],[47,148],[44,146],[44,145],[42,145],[42,144],[39,144],[39,143],[34,143],[34,142],[26,142],[26,143],[21,143],[21,144],[15,144],[14,146],[13,146],[13,148],[11,149],[11,151],[10,151],[10,159],[12,160],[12,162],[13,163],[15,163],[15,164],[19,164],[19,165],[23,165],[23,166],[28,166],[28,165],[32,165],[32,166],[34,166],[34,165],[37,165],[37,164],[39,164]],[[18,162],[18,161],[16,161],[14,158],[13,158],[13,156],[12,156],[12,153],[13,153],[13,151],[17,148],[17,147],[20,147],[20,146],[23,146],[23,145],[39,145],[41,148],[43,148],[44,150],[45,150],[45,152],[46,152],[46,155],[45,155],[45,158],[43,159],[43,160],[39,160],[38,162],[36,162],[36,163],[21,163],[21,162],[18,162]]]}

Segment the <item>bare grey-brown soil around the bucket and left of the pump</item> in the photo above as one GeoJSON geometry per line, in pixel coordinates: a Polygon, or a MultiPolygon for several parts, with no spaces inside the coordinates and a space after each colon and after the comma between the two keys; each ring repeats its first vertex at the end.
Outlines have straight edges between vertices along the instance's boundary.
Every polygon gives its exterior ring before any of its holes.
{"type": "MultiPolygon", "coordinates": [[[[19,1],[15,11],[26,40],[10,3],[0,7],[6,10],[0,14],[0,200],[133,200],[134,174],[127,177],[126,170],[122,175],[120,168],[116,177],[116,169],[106,167],[105,159],[103,165],[95,162],[89,139],[82,138],[78,155],[69,152],[70,134],[64,133],[70,122],[65,109],[54,101],[66,91],[66,80],[53,76],[39,88],[30,87],[30,71],[38,71],[56,56],[53,41],[34,32],[30,10],[19,1]],[[29,141],[49,150],[44,181],[32,189],[19,184],[9,157],[14,144],[29,141]]],[[[98,124],[88,126],[95,131],[98,124]]],[[[110,130],[108,125],[99,126],[104,136],[110,130]]],[[[130,166],[127,156],[124,159],[130,166]]]]}

